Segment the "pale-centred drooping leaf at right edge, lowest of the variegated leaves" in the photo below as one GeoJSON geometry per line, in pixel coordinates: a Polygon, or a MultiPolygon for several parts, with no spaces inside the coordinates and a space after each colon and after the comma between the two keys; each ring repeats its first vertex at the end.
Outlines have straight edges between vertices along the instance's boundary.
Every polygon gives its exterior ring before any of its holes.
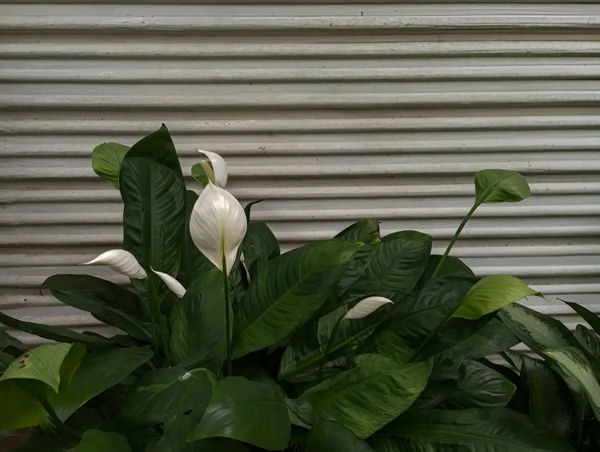
{"type": "MultiPolygon", "coordinates": [[[[583,388],[596,419],[600,420],[600,383],[584,352],[575,347],[565,347],[545,349],[542,354],[550,359],[567,384],[570,379],[574,379],[583,388]]],[[[578,390],[578,388],[572,389],[578,390]]]]}

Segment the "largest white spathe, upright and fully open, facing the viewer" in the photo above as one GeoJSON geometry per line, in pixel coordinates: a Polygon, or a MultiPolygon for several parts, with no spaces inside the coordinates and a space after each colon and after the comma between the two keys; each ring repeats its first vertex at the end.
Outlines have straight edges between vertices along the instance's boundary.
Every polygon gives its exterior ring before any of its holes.
{"type": "Polygon", "coordinates": [[[223,188],[206,185],[191,212],[190,236],[197,249],[228,275],[246,228],[246,215],[239,201],[223,188]],[[225,269],[223,256],[227,263],[225,269]]]}

